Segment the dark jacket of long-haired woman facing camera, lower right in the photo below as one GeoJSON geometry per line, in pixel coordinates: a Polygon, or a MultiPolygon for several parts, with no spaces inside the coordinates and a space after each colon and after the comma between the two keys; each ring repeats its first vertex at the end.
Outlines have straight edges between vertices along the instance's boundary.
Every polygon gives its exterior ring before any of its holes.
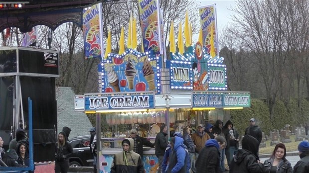
{"type": "MultiPolygon", "coordinates": [[[[270,158],[264,162],[264,173],[270,173],[272,163],[274,162],[274,158],[270,158]]],[[[293,168],[291,163],[286,159],[281,159],[277,166],[277,173],[293,173],[293,168]]]]}

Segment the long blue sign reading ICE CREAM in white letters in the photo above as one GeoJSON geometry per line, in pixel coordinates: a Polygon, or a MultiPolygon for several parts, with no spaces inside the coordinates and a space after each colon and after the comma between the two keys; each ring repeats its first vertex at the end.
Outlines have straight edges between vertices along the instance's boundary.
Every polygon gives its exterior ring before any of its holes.
{"type": "Polygon", "coordinates": [[[154,108],[154,94],[85,96],[85,110],[154,108]]]}

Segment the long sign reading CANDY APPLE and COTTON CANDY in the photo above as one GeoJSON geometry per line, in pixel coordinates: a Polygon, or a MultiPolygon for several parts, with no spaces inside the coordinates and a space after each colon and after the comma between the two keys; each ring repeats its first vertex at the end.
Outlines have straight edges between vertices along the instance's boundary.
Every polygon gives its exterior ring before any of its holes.
{"type": "Polygon", "coordinates": [[[196,92],[192,94],[192,107],[250,107],[250,92],[196,92]]]}

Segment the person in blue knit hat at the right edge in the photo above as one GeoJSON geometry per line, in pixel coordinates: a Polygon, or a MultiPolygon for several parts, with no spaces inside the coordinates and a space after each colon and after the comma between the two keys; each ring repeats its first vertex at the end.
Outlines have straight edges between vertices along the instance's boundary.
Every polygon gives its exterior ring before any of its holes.
{"type": "Polygon", "coordinates": [[[293,173],[309,173],[309,142],[302,141],[298,145],[298,151],[300,152],[300,158],[294,166],[293,173]]]}

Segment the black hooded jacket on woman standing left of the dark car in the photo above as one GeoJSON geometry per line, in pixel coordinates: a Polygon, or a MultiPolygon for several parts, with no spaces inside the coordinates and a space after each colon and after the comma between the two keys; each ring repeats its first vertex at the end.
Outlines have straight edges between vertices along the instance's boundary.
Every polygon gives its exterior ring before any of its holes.
{"type": "MultiPolygon", "coordinates": [[[[63,136],[65,136],[64,132],[60,132],[63,136]]],[[[68,141],[65,141],[64,146],[58,147],[58,142],[56,142],[55,147],[55,161],[56,162],[64,162],[69,160],[69,155],[73,153],[73,149],[71,144],[68,141]]]]}

